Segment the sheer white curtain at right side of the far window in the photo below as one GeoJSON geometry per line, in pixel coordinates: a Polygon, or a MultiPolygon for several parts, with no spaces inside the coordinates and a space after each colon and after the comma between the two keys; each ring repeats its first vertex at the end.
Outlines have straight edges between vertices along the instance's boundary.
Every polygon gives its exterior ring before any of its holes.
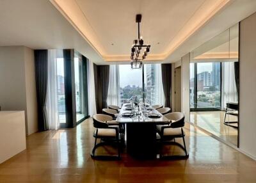
{"type": "Polygon", "coordinates": [[[156,104],[164,105],[164,91],[161,64],[156,64],[156,104]]]}

